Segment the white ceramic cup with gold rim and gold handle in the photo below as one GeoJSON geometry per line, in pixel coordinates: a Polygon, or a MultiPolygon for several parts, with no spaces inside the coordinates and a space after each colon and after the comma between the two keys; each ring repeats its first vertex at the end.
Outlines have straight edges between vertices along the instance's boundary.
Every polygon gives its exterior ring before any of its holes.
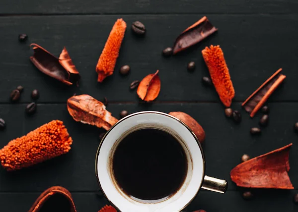
{"type": "Polygon", "coordinates": [[[179,212],[201,188],[224,193],[225,180],[205,175],[205,159],[198,138],[179,119],[162,112],[145,111],[131,114],[118,121],[102,139],[96,154],[96,177],[106,198],[121,212],[179,212]],[[187,157],[187,174],[180,189],[162,201],[142,202],[130,198],[117,185],[112,170],[112,158],[117,145],[133,131],[155,128],[166,131],[180,142],[187,157]]]}

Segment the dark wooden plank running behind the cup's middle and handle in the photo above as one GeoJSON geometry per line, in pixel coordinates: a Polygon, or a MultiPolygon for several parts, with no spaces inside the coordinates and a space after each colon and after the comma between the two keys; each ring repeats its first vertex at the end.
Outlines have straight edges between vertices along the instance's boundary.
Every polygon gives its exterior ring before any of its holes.
{"type": "MultiPolygon", "coordinates": [[[[260,114],[251,119],[238,104],[234,104],[233,108],[242,113],[239,125],[225,118],[220,104],[110,104],[108,110],[116,117],[123,109],[130,113],[144,110],[187,112],[206,132],[203,144],[206,174],[227,179],[230,191],[238,188],[231,182],[229,172],[244,153],[256,157],[293,142],[289,175],[297,188],[298,166],[294,164],[298,163],[298,157],[295,157],[298,154],[295,144],[298,135],[294,133],[293,125],[298,120],[293,114],[297,113],[298,104],[272,103],[269,107],[269,126],[258,137],[252,137],[249,130],[258,126],[260,114]]],[[[43,191],[53,185],[61,185],[71,191],[95,191],[98,188],[94,159],[99,145],[98,135],[102,132],[100,129],[75,122],[65,105],[38,105],[38,111],[32,117],[24,114],[24,105],[1,105],[0,117],[7,122],[7,128],[0,132],[0,147],[52,119],[63,120],[74,140],[67,155],[16,172],[0,168],[0,191],[43,191]]]]}

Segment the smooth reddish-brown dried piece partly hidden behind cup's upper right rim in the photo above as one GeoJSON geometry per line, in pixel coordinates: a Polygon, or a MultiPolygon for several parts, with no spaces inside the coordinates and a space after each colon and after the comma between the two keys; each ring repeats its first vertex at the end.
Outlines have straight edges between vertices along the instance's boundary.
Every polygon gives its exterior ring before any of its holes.
{"type": "Polygon", "coordinates": [[[185,112],[170,112],[169,114],[183,121],[195,133],[200,143],[203,143],[205,140],[205,131],[193,117],[185,112]]]}

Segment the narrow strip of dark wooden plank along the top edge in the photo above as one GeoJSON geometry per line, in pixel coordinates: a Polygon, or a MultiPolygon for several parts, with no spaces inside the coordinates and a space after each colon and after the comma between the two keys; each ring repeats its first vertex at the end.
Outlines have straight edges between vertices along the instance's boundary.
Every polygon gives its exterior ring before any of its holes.
{"type": "Polygon", "coordinates": [[[295,13],[295,0],[3,0],[0,14],[295,13]]]}

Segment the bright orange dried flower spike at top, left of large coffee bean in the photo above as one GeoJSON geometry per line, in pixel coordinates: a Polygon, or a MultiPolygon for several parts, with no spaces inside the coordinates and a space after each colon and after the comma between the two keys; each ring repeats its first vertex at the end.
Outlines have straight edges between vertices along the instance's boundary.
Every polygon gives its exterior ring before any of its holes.
{"type": "Polygon", "coordinates": [[[125,30],[125,21],[122,18],[118,19],[110,32],[108,40],[96,65],[98,82],[102,82],[107,76],[113,74],[125,30]]]}

